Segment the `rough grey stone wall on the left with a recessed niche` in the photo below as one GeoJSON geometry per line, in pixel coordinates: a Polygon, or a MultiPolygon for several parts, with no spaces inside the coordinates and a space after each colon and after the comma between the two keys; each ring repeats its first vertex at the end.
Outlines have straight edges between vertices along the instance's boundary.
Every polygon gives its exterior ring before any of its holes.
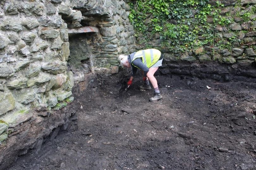
{"type": "Polygon", "coordinates": [[[135,48],[128,11],[123,0],[0,2],[1,169],[70,127],[74,85],[118,72],[135,48]],[[69,34],[85,26],[99,32],[69,34]]]}

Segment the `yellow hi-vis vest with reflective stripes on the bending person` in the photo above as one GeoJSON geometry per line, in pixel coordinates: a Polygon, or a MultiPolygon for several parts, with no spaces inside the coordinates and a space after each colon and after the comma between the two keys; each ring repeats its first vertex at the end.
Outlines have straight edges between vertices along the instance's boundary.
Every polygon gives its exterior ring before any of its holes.
{"type": "MultiPolygon", "coordinates": [[[[148,67],[150,68],[151,66],[153,66],[161,57],[161,52],[159,50],[156,49],[147,49],[147,50],[140,50],[137,51],[135,53],[135,55],[133,56],[133,59],[131,61],[132,62],[136,59],[136,58],[142,58],[142,62],[148,67]]],[[[132,64],[133,65],[133,64],[132,64]]],[[[133,65],[134,66],[134,65],[133,65]]],[[[136,67],[136,66],[135,66],[136,67]]]]}

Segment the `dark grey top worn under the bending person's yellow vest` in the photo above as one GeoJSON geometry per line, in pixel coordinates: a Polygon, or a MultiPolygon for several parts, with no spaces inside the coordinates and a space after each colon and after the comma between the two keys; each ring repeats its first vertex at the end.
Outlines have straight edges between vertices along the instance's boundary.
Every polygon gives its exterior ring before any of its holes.
{"type": "MultiPolygon", "coordinates": [[[[131,61],[134,57],[136,52],[134,53],[131,53],[129,56],[128,56],[128,62],[131,64],[131,61]]],[[[131,64],[131,74],[132,76],[134,77],[136,72],[137,72],[137,67],[144,71],[144,76],[147,75],[147,73],[149,72],[149,68],[142,62],[142,58],[136,58],[134,61],[132,61],[132,64],[131,64]],[[136,67],[134,67],[136,66],[136,67]]]]}

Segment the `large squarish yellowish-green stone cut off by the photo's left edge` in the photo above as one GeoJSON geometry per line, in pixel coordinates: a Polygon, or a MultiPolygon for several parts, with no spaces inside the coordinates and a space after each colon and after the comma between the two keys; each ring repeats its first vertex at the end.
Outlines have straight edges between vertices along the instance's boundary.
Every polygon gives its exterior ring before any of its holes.
{"type": "Polygon", "coordinates": [[[0,115],[15,108],[15,99],[11,93],[0,93],[0,115]]]}

